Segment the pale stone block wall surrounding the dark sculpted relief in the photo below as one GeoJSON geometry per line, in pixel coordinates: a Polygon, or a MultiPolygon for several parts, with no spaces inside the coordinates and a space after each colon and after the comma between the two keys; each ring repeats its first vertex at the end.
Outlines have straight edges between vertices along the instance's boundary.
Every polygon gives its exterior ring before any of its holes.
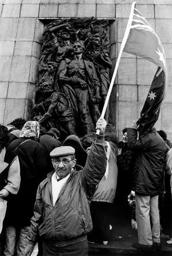
{"type": "MultiPolygon", "coordinates": [[[[110,26],[111,59],[115,65],[132,0],[0,0],[0,122],[27,117],[36,84],[41,35],[46,18],[116,19],[110,26]]],[[[172,1],[138,0],[136,7],[157,31],[169,67],[169,88],[156,124],[172,139],[172,1]]],[[[157,66],[123,53],[111,96],[111,118],[119,135],[139,118],[157,66]]]]}

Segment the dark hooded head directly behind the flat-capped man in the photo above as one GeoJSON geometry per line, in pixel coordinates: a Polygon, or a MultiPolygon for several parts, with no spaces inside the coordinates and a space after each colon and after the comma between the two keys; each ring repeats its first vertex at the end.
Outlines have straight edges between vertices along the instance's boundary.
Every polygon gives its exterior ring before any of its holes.
{"type": "Polygon", "coordinates": [[[86,160],[87,160],[87,153],[83,149],[83,146],[81,145],[79,137],[72,134],[69,135],[63,142],[63,146],[72,146],[75,148],[75,156],[77,159],[76,165],[81,165],[81,167],[84,168],[86,160]]]}

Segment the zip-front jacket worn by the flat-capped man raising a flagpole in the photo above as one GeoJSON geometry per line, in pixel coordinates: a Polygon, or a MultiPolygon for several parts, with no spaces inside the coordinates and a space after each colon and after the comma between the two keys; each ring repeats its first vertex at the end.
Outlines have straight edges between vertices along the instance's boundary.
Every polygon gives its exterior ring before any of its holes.
{"type": "Polygon", "coordinates": [[[106,168],[105,144],[102,138],[93,142],[91,153],[81,171],[72,170],[67,183],[62,187],[53,206],[51,177],[38,186],[34,216],[28,234],[29,243],[42,239],[55,242],[58,246],[76,243],[86,237],[92,229],[89,200],[106,168]]]}

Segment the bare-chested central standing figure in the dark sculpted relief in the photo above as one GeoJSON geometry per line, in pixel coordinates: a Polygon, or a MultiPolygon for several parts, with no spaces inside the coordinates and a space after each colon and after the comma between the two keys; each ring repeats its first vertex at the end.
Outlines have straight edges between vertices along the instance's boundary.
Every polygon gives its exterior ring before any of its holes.
{"type": "Polygon", "coordinates": [[[100,101],[100,82],[93,63],[83,57],[85,46],[81,40],[75,42],[73,51],[74,58],[61,61],[57,75],[61,91],[69,95],[78,109],[84,135],[94,129],[100,116],[97,108],[91,106],[91,100],[95,104],[100,101]]]}

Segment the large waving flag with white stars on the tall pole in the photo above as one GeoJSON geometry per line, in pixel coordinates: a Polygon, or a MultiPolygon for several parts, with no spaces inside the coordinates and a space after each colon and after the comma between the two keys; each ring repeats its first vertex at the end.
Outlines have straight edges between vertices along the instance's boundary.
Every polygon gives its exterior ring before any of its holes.
{"type": "Polygon", "coordinates": [[[157,122],[161,103],[166,94],[166,57],[161,40],[146,18],[135,9],[135,2],[132,3],[131,12],[130,32],[123,51],[147,59],[158,66],[137,121],[137,125],[148,129],[157,122]]]}

